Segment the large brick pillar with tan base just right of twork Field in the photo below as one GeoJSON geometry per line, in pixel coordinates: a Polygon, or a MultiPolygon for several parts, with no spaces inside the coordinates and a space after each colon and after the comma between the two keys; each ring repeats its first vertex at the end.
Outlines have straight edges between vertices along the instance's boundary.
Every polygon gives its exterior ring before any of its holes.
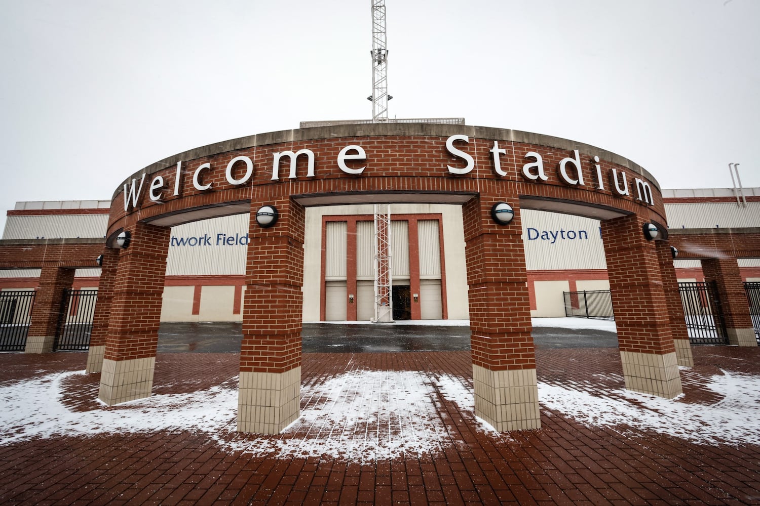
{"type": "Polygon", "coordinates": [[[256,223],[252,199],[238,393],[239,432],[278,434],[300,414],[303,235],[306,212],[289,196],[271,199],[280,218],[256,223]]]}

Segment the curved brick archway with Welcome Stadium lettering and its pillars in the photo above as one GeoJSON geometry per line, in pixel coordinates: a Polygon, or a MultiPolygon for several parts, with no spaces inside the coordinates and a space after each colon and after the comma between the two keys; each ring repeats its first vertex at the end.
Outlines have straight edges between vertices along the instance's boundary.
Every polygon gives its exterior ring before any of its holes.
{"type": "Polygon", "coordinates": [[[663,260],[670,248],[642,231],[654,223],[667,239],[660,189],[647,171],[555,137],[373,124],[204,146],[150,165],[116,190],[107,242],[113,247],[128,231],[131,244],[103,259],[101,291],[112,297],[99,310],[110,324],[107,335],[93,336],[88,362],[103,372],[100,399],[150,395],[169,228],[251,212],[238,430],[280,432],[299,414],[305,208],[382,202],[462,206],[475,409],[497,429],[540,427],[521,209],[602,221],[626,385],[667,398],[681,392],[678,364],[688,365],[691,353],[688,339],[671,331],[675,299],[663,288],[664,278],[675,281],[663,260]],[[508,225],[492,221],[498,202],[515,209],[508,225]],[[263,205],[280,213],[274,227],[255,223],[263,205]]]}

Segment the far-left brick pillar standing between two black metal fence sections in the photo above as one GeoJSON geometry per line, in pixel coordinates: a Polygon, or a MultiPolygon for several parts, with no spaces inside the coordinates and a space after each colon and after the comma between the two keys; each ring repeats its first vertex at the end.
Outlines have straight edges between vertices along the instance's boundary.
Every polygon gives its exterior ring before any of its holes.
{"type": "Polygon", "coordinates": [[[43,354],[52,351],[55,332],[65,307],[63,291],[71,288],[74,269],[64,269],[58,263],[43,265],[40,270],[40,288],[34,296],[32,322],[27,335],[24,353],[43,354]]]}

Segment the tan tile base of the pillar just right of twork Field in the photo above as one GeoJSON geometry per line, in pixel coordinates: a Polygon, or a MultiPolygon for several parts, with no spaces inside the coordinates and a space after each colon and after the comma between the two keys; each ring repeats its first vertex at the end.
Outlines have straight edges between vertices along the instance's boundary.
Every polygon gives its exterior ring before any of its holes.
{"type": "Polygon", "coordinates": [[[279,434],[301,414],[301,367],[287,372],[240,372],[238,432],[279,434]]]}

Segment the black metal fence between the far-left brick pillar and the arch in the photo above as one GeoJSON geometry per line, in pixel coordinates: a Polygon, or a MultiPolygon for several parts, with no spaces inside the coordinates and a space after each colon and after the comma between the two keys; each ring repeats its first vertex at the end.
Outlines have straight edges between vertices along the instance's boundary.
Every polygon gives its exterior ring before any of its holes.
{"type": "Polygon", "coordinates": [[[97,290],[65,290],[53,350],[87,350],[97,303],[97,290]]]}

